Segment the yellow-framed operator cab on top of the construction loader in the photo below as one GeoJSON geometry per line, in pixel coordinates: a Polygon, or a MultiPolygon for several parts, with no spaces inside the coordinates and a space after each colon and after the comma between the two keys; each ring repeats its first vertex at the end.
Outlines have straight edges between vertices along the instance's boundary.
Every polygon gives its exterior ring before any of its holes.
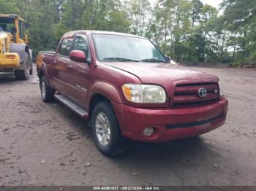
{"type": "Polygon", "coordinates": [[[18,15],[0,15],[0,32],[12,34],[12,42],[29,43],[28,36],[23,34],[23,19],[18,15]]]}

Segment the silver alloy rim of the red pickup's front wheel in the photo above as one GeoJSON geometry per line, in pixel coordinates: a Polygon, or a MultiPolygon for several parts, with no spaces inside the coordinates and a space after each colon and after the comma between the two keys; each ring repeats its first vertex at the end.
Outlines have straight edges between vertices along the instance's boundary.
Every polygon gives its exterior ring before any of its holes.
{"type": "Polygon", "coordinates": [[[107,146],[110,142],[111,131],[110,122],[105,113],[99,112],[99,114],[97,114],[95,125],[99,143],[102,146],[107,146]]]}

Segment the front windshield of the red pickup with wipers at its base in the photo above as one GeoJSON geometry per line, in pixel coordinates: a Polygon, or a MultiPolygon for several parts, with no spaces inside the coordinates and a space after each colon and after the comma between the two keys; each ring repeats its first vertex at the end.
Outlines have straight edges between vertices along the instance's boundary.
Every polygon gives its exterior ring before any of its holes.
{"type": "Polygon", "coordinates": [[[99,61],[164,62],[164,55],[148,39],[93,34],[99,61]]]}

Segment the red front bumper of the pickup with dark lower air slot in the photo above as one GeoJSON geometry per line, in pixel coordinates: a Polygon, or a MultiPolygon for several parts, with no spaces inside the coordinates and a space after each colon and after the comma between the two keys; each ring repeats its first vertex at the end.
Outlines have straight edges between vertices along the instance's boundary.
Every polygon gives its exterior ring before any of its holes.
{"type": "Polygon", "coordinates": [[[168,109],[142,109],[112,104],[124,136],[152,142],[184,139],[219,128],[225,123],[228,109],[226,98],[203,106],[168,109]],[[154,127],[154,134],[146,137],[143,130],[148,127],[154,127]]]}

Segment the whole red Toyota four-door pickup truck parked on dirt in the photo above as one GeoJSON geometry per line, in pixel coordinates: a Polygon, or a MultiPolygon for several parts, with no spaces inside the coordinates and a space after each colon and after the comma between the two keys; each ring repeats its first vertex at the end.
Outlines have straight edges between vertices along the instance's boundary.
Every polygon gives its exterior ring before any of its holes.
{"type": "Polygon", "coordinates": [[[127,138],[162,142],[223,125],[219,78],[178,66],[148,39],[106,31],[64,34],[39,52],[42,100],[54,98],[89,120],[100,152],[124,152],[127,138]]]}

